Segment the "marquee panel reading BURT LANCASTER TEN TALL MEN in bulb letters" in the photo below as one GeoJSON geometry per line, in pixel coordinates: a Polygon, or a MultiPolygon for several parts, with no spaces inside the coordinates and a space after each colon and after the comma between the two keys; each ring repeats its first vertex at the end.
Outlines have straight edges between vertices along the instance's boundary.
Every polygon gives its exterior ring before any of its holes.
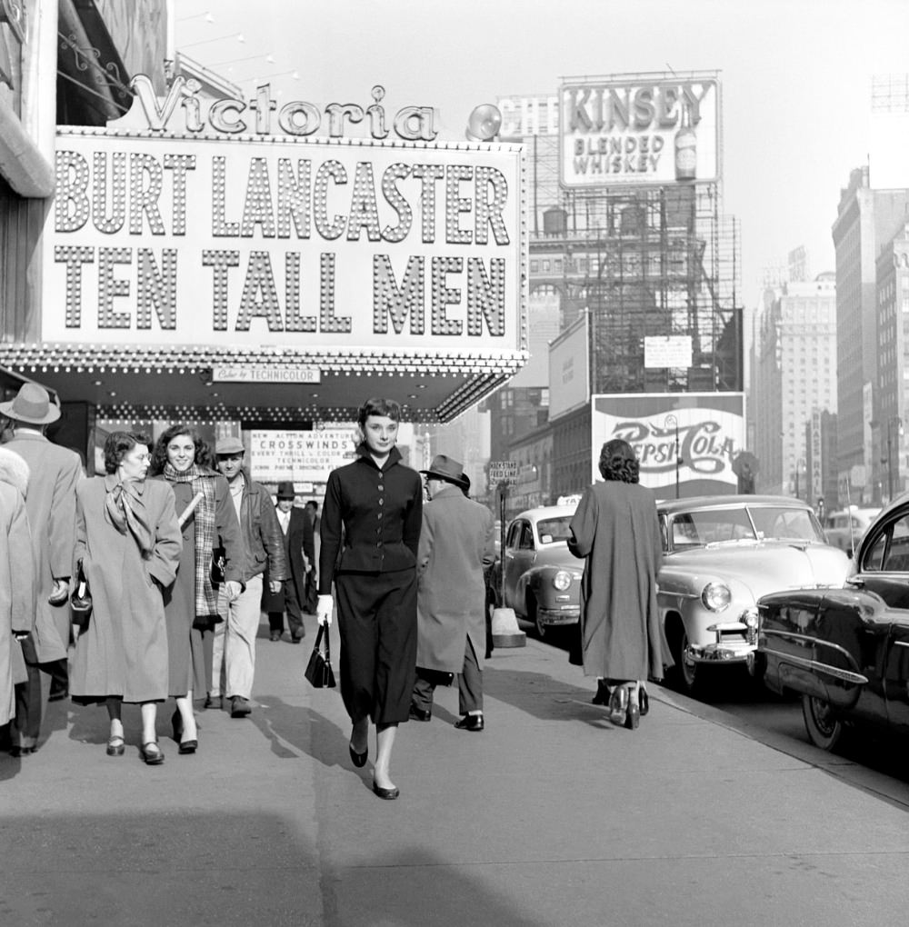
{"type": "Polygon", "coordinates": [[[61,130],[42,337],[513,352],[520,158],[61,130]]]}

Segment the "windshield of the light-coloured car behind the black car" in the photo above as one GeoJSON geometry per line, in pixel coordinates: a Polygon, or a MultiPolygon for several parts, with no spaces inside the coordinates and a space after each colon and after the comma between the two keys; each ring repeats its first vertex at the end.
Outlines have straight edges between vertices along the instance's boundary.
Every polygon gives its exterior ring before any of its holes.
{"type": "Polygon", "coordinates": [[[734,540],[824,540],[811,512],[785,506],[680,512],[670,524],[675,550],[734,540]]]}

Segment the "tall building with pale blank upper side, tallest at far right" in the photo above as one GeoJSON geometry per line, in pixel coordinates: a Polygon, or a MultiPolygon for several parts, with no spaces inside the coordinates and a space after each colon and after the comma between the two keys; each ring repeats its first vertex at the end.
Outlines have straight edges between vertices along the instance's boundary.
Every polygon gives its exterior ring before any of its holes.
{"type": "Polygon", "coordinates": [[[877,436],[877,252],[909,220],[909,190],[871,188],[870,169],[851,171],[840,191],[837,261],[837,456],[853,501],[879,502],[877,436]]]}

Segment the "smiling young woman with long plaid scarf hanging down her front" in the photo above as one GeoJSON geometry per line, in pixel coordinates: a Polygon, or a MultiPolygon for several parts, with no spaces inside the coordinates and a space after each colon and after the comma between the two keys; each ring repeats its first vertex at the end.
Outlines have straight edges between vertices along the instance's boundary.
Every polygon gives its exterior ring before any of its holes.
{"type": "Polygon", "coordinates": [[[240,589],[240,537],[237,511],[227,480],[214,467],[209,446],[187,425],[171,425],[155,442],[151,472],[166,480],[176,498],[183,552],[176,582],[164,596],[170,654],[168,694],[176,701],[173,739],[181,754],[195,753],[198,729],[193,693],[211,691],[211,661],[218,593],[211,585],[211,549],[224,544],[228,596],[240,589]],[[199,498],[197,498],[199,497],[199,498]],[[195,507],[193,502],[195,500],[195,507]]]}

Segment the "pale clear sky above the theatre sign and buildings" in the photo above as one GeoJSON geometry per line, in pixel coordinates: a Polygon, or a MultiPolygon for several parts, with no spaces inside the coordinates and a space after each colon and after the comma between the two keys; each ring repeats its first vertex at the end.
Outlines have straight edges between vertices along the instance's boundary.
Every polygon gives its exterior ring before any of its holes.
{"type": "Polygon", "coordinates": [[[909,72],[909,0],[174,6],[177,47],[247,94],[267,79],[279,99],[365,108],[379,83],[390,113],[436,108],[442,140],[462,140],[477,105],[556,94],[563,78],[719,70],[723,212],[740,222],[740,301],[749,308],[766,270],[785,264],[793,248],[807,248],[811,273],[834,269],[830,227],[839,191],[868,159],[871,77],[909,72]]]}

